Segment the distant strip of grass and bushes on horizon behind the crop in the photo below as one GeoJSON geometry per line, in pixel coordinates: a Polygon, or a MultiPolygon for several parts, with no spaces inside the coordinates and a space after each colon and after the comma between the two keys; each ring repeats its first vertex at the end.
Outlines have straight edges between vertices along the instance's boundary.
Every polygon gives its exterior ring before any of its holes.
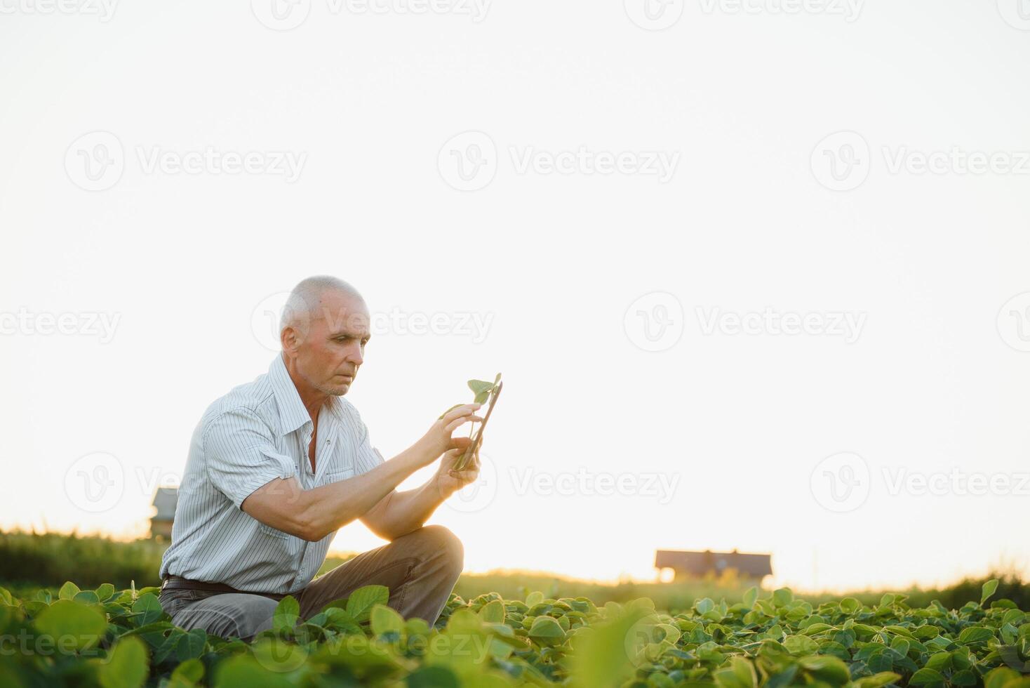
{"type": "MultiPolygon", "coordinates": [[[[13,590],[41,587],[58,588],[65,581],[74,581],[80,588],[111,583],[118,589],[135,582],[137,588],[160,585],[158,571],[167,542],[137,540],[116,542],[96,536],[0,532],[0,586],[13,590]]],[[[331,556],[319,573],[324,573],[353,555],[331,556]]],[[[913,607],[926,607],[937,599],[948,609],[959,609],[968,601],[978,601],[984,581],[1000,581],[994,599],[1011,599],[1020,609],[1030,609],[1030,584],[1015,570],[992,572],[983,579],[966,579],[955,585],[932,590],[890,590],[908,595],[913,607]]],[[[689,608],[694,599],[712,597],[719,600],[740,599],[749,583],[722,577],[718,580],[686,581],[683,583],[620,583],[606,585],[534,573],[464,574],[455,592],[471,598],[484,592],[499,592],[505,598],[522,598],[527,591],[540,590],[548,596],[578,597],[585,595],[603,605],[606,601],[626,601],[650,597],[659,609],[689,608]]],[[[849,593],[863,604],[873,605],[886,590],[864,590],[849,593]]],[[[840,594],[805,594],[809,601],[839,599],[840,594]]]]}

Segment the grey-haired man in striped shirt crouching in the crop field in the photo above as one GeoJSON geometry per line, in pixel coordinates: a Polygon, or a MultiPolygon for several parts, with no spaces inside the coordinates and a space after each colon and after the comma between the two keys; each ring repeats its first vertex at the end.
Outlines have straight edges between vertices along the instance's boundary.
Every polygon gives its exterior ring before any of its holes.
{"type": "Polygon", "coordinates": [[[282,351],[268,373],[204,412],[161,563],[161,604],[176,625],[247,640],[272,627],[287,594],[309,618],[372,584],[389,588],[404,617],[439,617],[464,554],[452,532],[423,523],[478,476],[478,460],[453,470],[469,439],[451,434],[480,420],[479,405],[451,410],[384,460],[343,398],[364,363],[369,320],[348,283],[305,279],[283,311],[282,351]],[[441,456],[432,480],[397,491],[441,456]],[[337,529],[355,518],[389,544],[314,579],[337,529]]]}

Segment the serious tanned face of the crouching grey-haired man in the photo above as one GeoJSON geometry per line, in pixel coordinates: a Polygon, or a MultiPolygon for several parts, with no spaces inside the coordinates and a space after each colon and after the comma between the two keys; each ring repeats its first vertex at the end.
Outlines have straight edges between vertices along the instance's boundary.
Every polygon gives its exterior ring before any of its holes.
{"type": "Polygon", "coordinates": [[[294,352],[304,381],[324,394],[346,394],[365,362],[369,321],[368,306],[360,298],[323,291],[294,352]]]}

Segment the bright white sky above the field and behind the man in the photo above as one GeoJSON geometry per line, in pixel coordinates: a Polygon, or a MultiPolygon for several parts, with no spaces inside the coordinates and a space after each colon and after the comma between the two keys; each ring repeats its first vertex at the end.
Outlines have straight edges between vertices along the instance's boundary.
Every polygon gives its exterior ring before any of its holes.
{"type": "Polygon", "coordinates": [[[621,4],[0,5],[0,526],[143,534],[330,273],[387,457],[504,373],[469,571],[1027,571],[1030,19],[621,4]]]}

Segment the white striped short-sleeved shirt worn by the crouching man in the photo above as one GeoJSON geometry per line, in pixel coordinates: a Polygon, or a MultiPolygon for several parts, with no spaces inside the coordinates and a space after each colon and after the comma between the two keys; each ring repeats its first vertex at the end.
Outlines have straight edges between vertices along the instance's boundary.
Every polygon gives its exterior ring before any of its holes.
{"type": "Polygon", "coordinates": [[[330,397],[318,414],[314,473],[308,459],[312,431],[281,353],[267,374],[211,404],[190,444],[161,577],[277,593],[296,593],[310,583],[336,534],[307,542],[262,523],[240,505],[276,478],[294,476],[311,489],[383,462],[357,409],[342,397],[330,397]]]}

